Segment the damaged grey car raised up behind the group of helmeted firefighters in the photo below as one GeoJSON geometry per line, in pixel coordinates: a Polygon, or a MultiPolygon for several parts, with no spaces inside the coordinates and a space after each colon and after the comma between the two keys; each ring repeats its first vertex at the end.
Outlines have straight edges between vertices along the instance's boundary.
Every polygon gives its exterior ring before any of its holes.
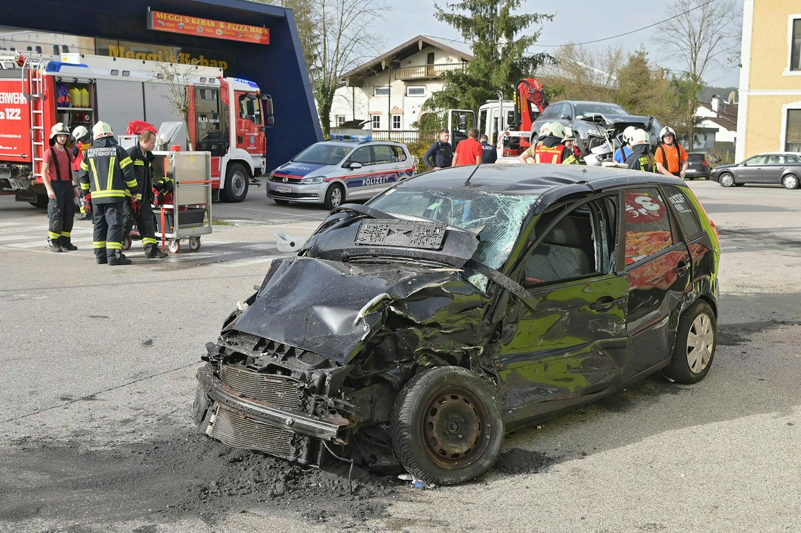
{"type": "Polygon", "coordinates": [[[578,100],[562,100],[545,107],[532,130],[539,131],[545,122],[561,122],[570,126],[578,135],[576,139],[582,157],[590,154],[595,146],[605,146],[606,135],[617,138],[615,147],[620,146],[620,135],[628,126],[646,130],[650,136],[650,145],[656,146],[662,124],[655,117],[628,114],[621,106],[609,102],[583,102],[578,100]]]}

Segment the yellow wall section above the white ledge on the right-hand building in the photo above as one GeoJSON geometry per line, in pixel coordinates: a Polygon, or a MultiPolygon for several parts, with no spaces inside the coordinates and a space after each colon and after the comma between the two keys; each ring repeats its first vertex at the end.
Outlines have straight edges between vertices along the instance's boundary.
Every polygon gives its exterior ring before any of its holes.
{"type": "Polygon", "coordinates": [[[755,0],[749,90],[801,89],[801,75],[782,75],[790,61],[787,17],[791,14],[801,14],[801,0],[755,0]]]}

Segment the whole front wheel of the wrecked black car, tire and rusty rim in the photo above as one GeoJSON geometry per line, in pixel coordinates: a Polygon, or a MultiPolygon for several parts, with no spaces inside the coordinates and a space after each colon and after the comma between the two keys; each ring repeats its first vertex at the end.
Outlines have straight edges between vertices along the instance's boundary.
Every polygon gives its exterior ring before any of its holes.
{"type": "Polygon", "coordinates": [[[501,451],[503,419],[488,383],[461,367],[413,376],[392,411],[392,448],[411,475],[452,485],[493,467],[501,451]]]}

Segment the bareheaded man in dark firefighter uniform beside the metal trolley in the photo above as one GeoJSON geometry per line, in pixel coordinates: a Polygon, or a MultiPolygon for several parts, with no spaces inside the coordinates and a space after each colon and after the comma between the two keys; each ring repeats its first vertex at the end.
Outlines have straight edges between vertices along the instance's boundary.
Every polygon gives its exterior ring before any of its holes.
{"type": "Polygon", "coordinates": [[[139,142],[131,146],[128,155],[134,162],[134,172],[136,182],[139,184],[139,214],[135,214],[131,209],[131,203],[125,204],[125,234],[123,239],[131,233],[131,228],[136,221],[139,235],[142,237],[142,246],[145,249],[145,257],[148,259],[163,259],[167,257],[155,241],[155,226],[153,224],[153,148],[155,147],[155,133],[151,130],[143,130],[139,134],[139,142]]]}

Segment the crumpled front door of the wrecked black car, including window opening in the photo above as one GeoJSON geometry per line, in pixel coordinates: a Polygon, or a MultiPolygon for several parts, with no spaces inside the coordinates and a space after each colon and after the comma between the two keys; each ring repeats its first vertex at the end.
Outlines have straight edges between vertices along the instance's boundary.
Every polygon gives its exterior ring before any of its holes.
{"type": "Polygon", "coordinates": [[[510,312],[497,358],[507,411],[523,420],[602,391],[626,353],[625,275],[615,271],[618,194],[546,210],[513,276],[528,306],[510,312]]]}

